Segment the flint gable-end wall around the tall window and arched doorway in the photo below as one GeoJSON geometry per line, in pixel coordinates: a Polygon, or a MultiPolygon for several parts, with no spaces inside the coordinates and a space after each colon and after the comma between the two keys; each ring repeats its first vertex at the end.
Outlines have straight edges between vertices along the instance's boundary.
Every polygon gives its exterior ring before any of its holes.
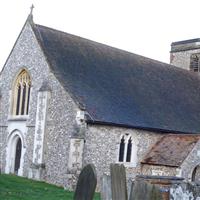
{"type": "MultiPolygon", "coordinates": [[[[41,48],[34,36],[29,23],[26,23],[10,57],[1,73],[0,88],[2,91],[0,110],[1,123],[1,169],[5,170],[9,149],[7,146],[9,136],[15,129],[23,135],[25,148],[22,174],[28,176],[34,168],[34,135],[37,131],[36,111],[37,98],[44,82],[48,82],[50,96],[46,110],[46,128],[44,130],[43,161],[45,173],[41,179],[57,185],[70,185],[67,182],[67,164],[69,158],[70,136],[77,126],[76,113],[78,106],[74,103],[69,94],[63,89],[55,76],[50,72],[48,63],[41,51],[41,48]],[[31,76],[31,95],[29,116],[17,118],[11,116],[12,84],[17,74],[26,69],[31,76]],[[23,129],[23,130],[22,130],[23,129]]],[[[36,166],[37,167],[37,166],[36,166]]],[[[9,172],[8,166],[8,172],[9,172]]],[[[11,172],[12,173],[12,172],[11,172]]]]}

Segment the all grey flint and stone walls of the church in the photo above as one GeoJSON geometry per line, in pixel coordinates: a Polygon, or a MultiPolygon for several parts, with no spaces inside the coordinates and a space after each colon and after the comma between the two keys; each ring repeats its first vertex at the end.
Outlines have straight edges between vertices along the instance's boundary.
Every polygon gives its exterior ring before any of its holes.
{"type": "MultiPolygon", "coordinates": [[[[30,20],[26,21],[0,74],[1,172],[16,173],[16,139],[20,138],[22,153],[17,175],[75,189],[81,168],[92,163],[96,167],[99,190],[100,179],[104,174],[109,174],[110,164],[119,162],[120,142],[125,138],[132,142],[131,162],[124,162],[127,179],[134,179],[141,173],[177,175],[177,169],[172,172],[166,166],[143,167],[140,163],[152,146],[163,137],[162,132],[87,121],[85,108],[52,72],[31,23],[30,20]],[[13,85],[23,69],[31,78],[29,114],[13,116],[13,85]]],[[[182,56],[183,53],[180,54],[182,56]]],[[[184,56],[188,58],[189,54],[184,56]]],[[[179,57],[175,56],[172,64],[179,57]]],[[[185,66],[188,65],[188,61],[184,60],[176,63],[184,66],[183,62],[185,66]]],[[[189,180],[192,170],[199,164],[198,147],[199,143],[181,166],[181,175],[189,180]]]]}

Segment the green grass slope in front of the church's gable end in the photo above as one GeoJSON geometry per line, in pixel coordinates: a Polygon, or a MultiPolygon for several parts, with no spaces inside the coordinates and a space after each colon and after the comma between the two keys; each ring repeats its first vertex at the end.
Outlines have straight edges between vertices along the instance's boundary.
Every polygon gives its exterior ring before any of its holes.
{"type": "MultiPolygon", "coordinates": [[[[1,200],[72,200],[73,192],[14,175],[0,175],[1,200]]],[[[94,200],[100,200],[96,194],[94,200]]]]}

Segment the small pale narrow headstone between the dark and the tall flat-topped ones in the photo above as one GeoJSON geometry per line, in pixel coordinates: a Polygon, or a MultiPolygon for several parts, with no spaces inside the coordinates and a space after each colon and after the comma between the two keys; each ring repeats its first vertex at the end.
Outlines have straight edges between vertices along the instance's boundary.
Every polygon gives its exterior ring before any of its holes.
{"type": "Polygon", "coordinates": [[[101,178],[101,200],[112,200],[111,178],[106,174],[101,178]]]}

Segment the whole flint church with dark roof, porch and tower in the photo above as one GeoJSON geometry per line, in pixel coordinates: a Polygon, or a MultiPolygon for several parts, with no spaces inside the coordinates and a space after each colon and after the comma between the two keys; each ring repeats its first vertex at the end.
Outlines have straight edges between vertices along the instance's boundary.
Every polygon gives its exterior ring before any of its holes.
{"type": "Polygon", "coordinates": [[[171,65],[35,24],[0,73],[0,170],[73,189],[93,163],[198,180],[200,39],[171,65]],[[177,67],[175,67],[177,66],[177,67]],[[182,69],[183,68],[183,69],[182,69]]]}

